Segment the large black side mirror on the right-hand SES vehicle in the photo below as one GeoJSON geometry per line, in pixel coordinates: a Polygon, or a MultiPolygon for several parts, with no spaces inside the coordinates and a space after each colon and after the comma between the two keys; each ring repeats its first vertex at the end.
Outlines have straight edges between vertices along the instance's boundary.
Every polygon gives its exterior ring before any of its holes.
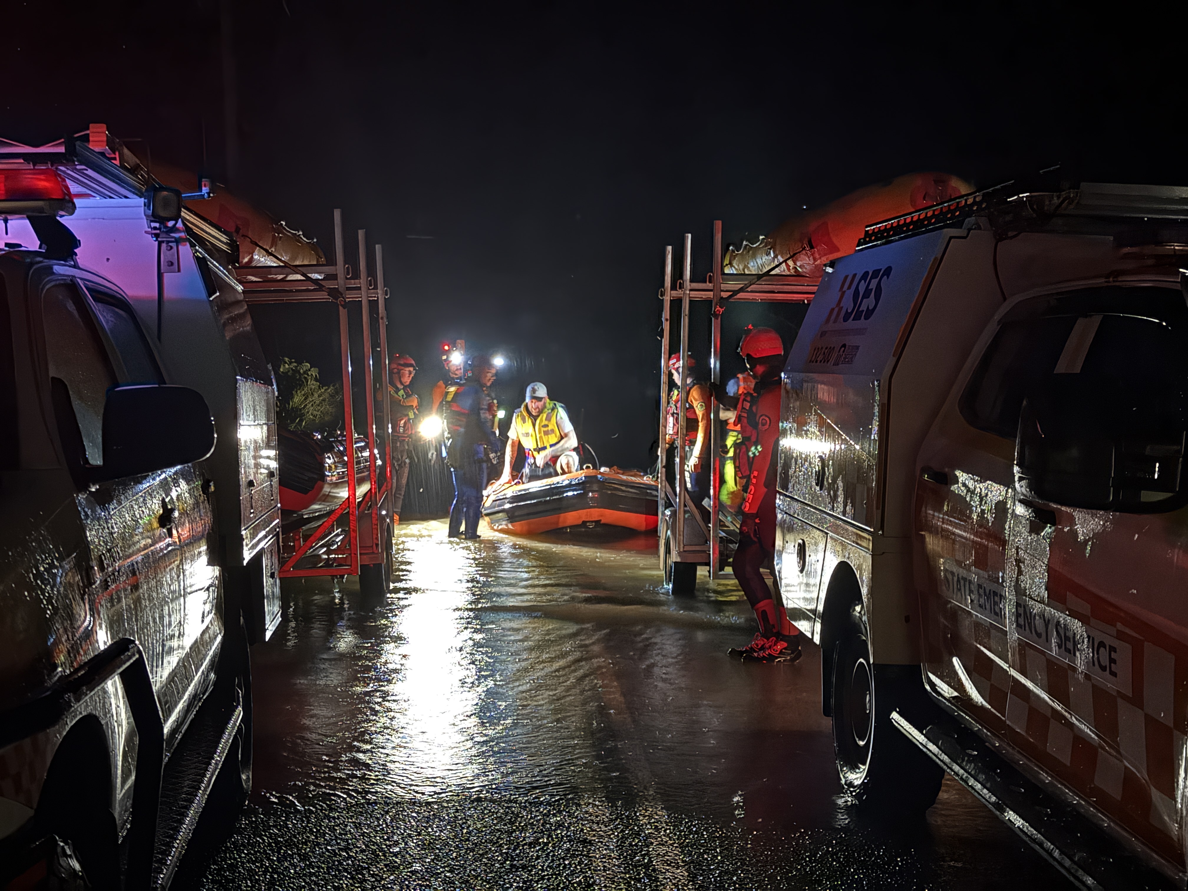
{"type": "Polygon", "coordinates": [[[1015,444],[1020,498],[1064,507],[1156,513],[1183,504],[1180,400],[1100,378],[1054,375],[1023,403],[1015,444]]]}

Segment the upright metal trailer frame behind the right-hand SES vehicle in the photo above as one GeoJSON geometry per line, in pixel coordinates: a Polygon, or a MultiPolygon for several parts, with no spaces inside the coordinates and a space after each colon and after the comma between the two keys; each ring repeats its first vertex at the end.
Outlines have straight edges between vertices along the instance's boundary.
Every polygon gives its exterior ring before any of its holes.
{"type": "MultiPolygon", "coordinates": [[[[738,274],[723,274],[722,268],[722,221],[714,221],[714,235],[713,235],[714,254],[710,268],[713,272],[709,273],[707,282],[690,282],[693,276],[693,235],[685,233],[684,236],[684,257],[682,263],[682,276],[676,283],[676,287],[672,286],[672,246],[669,245],[664,248],[664,286],[661,289],[661,425],[659,425],[659,465],[657,470],[657,481],[659,482],[659,495],[657,508],[659,511],[661,523],[657,526],[658,530],[658,552],[662,562],[662,569],[668,569],[664,565],[664,554],[665,554],[665,541],[664,537],[669,536],[672,538],[674,544],[670,549],[670,558],[674,563],[700,563],[709,565],[709,577],[710,579],[733,579],[733,573],[723,571],[722,569],[722,554],[721,554],[721,535],[720,535],[720,519],[719,519],[719,489],[721,488],[721,457],[719,455],[719,429],[718,429],[718,394],[715,392],[716,386],[721,384],[721,347],[722,347],[722,312],[726,310],[726,304],[731,301],[746,301],[752,303],[809,303],[813,296],[816,293],[817,284],[820,284],[820,278],[808,278],[803,276],[792,274],[775,274],[779,273],[779,270],[788,267],[791,258],[785,258],[779,260],[775,266],[765,272],[757,276],[738,276],[738,274]],[[729,292],[723,295],[722,287],[729,287],[729,292]],[[700,511],[693,504],[693,499],[688,492],[688,485],[685,482],[685,449],[683,443],[683,436],[677,438],[676,448],[676,492],[668,485],[665,478],[666,470],[666,451],[664,448],[664,434],[665,434],[665,419],[668,413],[668,400],[669,400],[669,368],[668,359],[670,355],[669,341],[671,337],[672,329],[672,303],[674,301],[680,301],[681,304],[681,383],[680,383],[680,398],[677,402],[678,413],[677,417],[683,417],[685,411],[685,400],[689,398],[689,374],[688,374],[688,359],[689,359],[689,303],[690,301],[712,301],[712,312],[710,312],[710,330],[709,330],[709,374],[710,374],[710,397],[709,397],[709,454],[713,461],[712,474],[710,474],[710,492],[709,492],[709,524],[702,519],[700,511]],[[668,508],[676,508],[677,505],[684,505],[684,510],[674,510],[675,523],[672,527],[663,522],[665,512],[668,508]],[[706,544],[685,544],[685,525],[689,522],[687,518],[691,518],[696,523],[702,535],[706,538],[706,544]]],[[[681,425],[683,429],[683,424],[681,425]]]]}

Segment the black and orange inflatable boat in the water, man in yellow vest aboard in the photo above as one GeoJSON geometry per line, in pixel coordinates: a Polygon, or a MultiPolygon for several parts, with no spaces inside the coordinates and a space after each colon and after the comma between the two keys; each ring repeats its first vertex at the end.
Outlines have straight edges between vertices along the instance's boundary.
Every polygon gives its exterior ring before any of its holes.
{"type": "Polygon", "coordinates": [[[517,482],[487,494],[482,516],[500,532],[531,535],[602,523],[646,532],[656,529],[656,480],[638,470],[577,470],[517,482]]]}

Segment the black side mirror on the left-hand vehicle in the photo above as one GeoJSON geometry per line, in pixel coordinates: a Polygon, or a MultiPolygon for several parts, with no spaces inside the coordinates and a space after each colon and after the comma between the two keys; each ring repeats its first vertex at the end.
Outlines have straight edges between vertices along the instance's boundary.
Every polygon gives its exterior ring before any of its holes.
{"type": "Polygon", "coordinates": [[[107,392],[103,407],[105,480],[134,476],[208,457],[215,423],[196,390],[126,386],[107,392]]]}

